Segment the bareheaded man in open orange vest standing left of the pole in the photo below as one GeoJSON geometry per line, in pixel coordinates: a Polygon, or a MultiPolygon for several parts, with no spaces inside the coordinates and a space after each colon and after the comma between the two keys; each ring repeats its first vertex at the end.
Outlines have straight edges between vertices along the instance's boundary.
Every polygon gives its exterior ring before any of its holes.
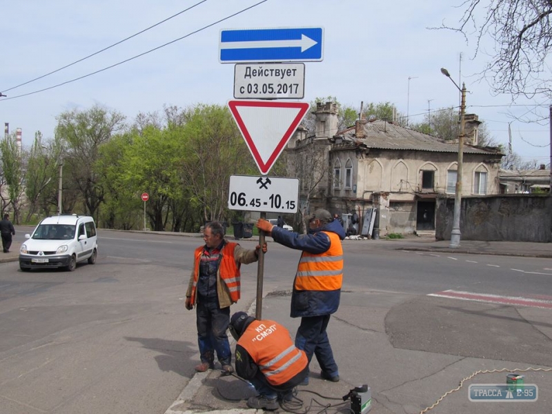
{"type": "MultiPolygon", "coordinates": [[[[218,221],[204,227],[205,245],[194,253],[194,267],[186,291],[186,309],[196,306],[197,343],[201,363],[195,371],[215,368],[215,352],[224,373],[233,373],[232,351],[226,330],[230,323],[230,305],[240,295],[241,264],[257,262],[259,249],[248,250],[224,239],[218,221]]],[[[262,247],[266,252],[266,243],[262,247]]]]}

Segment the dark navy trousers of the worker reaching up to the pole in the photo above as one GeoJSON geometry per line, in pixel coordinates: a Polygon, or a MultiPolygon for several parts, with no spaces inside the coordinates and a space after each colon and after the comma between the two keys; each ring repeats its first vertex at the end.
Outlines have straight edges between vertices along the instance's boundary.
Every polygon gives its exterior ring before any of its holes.
{"type": "Polygon", "coordinates": [[[305,351],[309,364],[315,355],[322,371],[330,377],[335,377],[339,375],[339,371],[326,333],[328,322],[330,315],[302,317],[295,335],[295,346],[305,351]]]}

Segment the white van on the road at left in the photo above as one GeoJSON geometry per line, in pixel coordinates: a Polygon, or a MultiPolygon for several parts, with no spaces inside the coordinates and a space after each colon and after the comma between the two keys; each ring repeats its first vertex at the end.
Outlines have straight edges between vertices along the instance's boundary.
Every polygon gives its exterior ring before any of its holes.
{"type": "Polygon", "coordinates": [[[73,271],[77,262],[95,264],[98,240],[90,216],[53,215],[43,219],[19,249],[19,268],[64,267],[73,271]]]}

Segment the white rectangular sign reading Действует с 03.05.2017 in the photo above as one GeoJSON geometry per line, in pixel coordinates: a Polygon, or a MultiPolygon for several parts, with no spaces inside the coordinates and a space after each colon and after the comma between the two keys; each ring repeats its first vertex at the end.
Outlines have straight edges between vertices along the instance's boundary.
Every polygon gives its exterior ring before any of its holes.
{"type": "Polygon", "coordinates": [[[236,99],[302,99],[304,63],[238,63],[234,69],[236,99]]]}

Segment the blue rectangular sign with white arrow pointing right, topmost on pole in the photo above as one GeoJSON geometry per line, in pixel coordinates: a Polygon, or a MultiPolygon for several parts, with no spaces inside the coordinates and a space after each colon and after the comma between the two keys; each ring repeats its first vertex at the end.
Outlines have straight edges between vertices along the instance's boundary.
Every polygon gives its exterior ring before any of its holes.
{"type": "Polygon", "coordinates": [[[221,30],[219,61],[322,61],[323,38],[322,28],[221,30]]]}

